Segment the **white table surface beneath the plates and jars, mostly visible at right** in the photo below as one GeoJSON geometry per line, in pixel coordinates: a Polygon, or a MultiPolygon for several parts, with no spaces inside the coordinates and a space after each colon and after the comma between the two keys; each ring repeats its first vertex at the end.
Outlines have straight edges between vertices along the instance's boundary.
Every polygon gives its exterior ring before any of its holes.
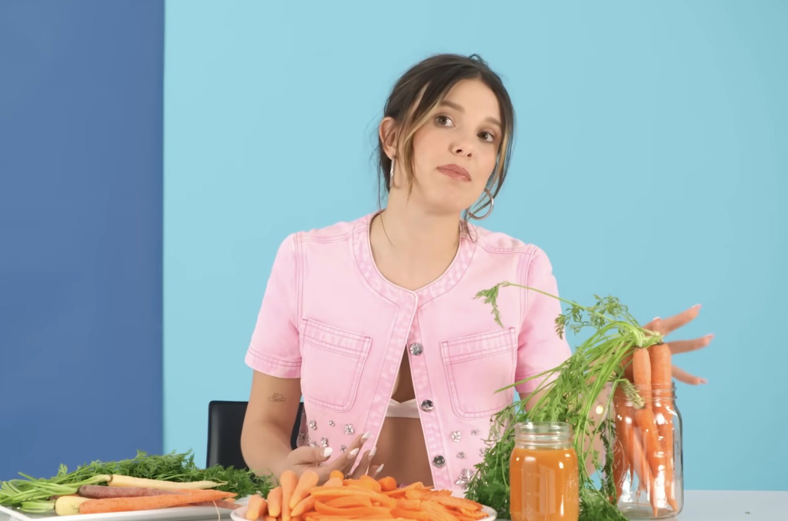
{"type": "MultiPolygon", "coordinates": [[[[76,517],[74,518],[76,521],[76,517]]],[[[788,521],[788,492],[685,490],[678,521],[788,521]]],[[[0,521],[11,521],[0,513],[0,521]]]]}

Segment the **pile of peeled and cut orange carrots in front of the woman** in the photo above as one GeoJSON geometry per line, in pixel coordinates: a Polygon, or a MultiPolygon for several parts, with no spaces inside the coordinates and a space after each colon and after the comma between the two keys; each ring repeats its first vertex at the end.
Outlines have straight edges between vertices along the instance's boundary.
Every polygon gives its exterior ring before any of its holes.
{"type": "Polygon", "coordinates": [[[251,496],[248,521],[339,521],[340,519],[400,519],[415,521],[478,521],[487,514],[481,504],[453,497],[451,490],[433,490],[414,483],[397,488],[394,478],[344,479],[334,471],[318,486],[318,474],[299,478],[285,471],[281,486],[268,499],[251,496]]]}

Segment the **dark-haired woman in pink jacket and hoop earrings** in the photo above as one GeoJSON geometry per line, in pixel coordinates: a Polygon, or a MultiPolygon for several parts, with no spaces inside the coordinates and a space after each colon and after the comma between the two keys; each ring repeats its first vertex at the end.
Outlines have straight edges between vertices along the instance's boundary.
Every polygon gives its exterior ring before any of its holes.
{"type": "MultiPolygon", "coordinates": [[[[385,209],[294,233],[273,263],[246,357],[249,467],[323,482],[385,466],[400,483],[463,489],[490,417],[514,397],[495,390],[571,354],[553,329],[558,300],[508,288],[500,328],[473,299],[500,281],[558,294],[544,251],[469,224],[493,210],[514,121],[500,78],[475,55],[433,56],[396,83],[379,127],[385,209]],[[302,395],[307,423],[291,450],[302,395]]],[[[663,333],[695,316],[662,321],[663,333]]]]}

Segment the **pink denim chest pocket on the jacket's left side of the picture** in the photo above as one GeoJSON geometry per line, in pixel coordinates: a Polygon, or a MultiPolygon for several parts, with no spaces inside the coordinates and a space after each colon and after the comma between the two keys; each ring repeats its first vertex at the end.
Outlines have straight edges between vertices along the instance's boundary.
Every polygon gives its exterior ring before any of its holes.
{"type": "Polygon", "coordinates": [[[304,400],[333,411],[349,411],[372,338],[310,318],[303,318],[300,337],[304,400]]]}

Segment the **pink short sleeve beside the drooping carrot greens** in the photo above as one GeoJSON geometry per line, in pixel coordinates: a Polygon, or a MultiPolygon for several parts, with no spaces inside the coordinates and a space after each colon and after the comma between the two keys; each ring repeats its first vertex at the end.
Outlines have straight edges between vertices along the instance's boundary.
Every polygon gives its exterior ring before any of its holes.
{"type": "MultiPolygon", "coordinates": [[[[526,258],[522,284],[537,288],[550,295],[558,295],[556,277],[545,252],[536,248],[530,259],[526,258]]],[[[561,301],[528,289],[524,293],[524,317],[518,337],[517,370],[515,381],[522,381],[536,374],[558,367],[572,354],[566,337],[556,333],[556,318],[562,313],[561,301]]],[[[533,392],[543,378],[534,378],[517,385],[521,394],[533,392]]]]}

